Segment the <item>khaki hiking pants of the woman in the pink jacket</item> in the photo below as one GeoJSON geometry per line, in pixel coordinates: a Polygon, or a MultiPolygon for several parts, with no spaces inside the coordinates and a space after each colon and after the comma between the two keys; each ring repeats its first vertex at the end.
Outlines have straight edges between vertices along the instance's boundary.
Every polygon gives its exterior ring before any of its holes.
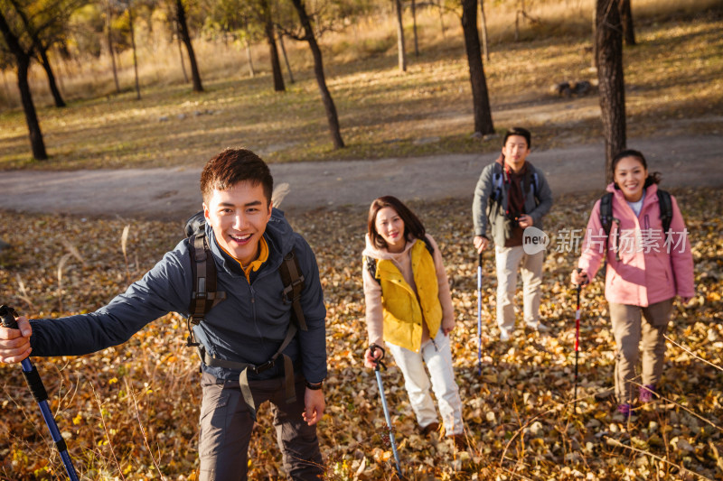
{"type": "Polygon", "coordinates": [[[610,320],[617,347],[615,395],[618,402],[632,404],[637,384],[660,382],[665,360],[665,328],[671,319],[671,310],[672,299],[646,308],[610,302],[610,320]],[[643,373],[637,378],[635,367],[641,352],[643,373]]]}

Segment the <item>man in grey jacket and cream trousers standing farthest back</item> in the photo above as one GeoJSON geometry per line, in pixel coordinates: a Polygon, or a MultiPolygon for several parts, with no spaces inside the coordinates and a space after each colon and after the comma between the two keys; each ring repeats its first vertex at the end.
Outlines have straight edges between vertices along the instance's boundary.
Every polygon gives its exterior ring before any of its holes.
{"type": "Polygon", "coordinates": [[[484,168],[474,189],[472,217],[474,247],[480,254],[492,232],[497,271],[497,326],[500,339],[508,340],[514,329],[514,291],[521,271],[523,317],[535,330],[547,330],[540,322],[540,286],[544,251],[528,253],[523,234],[528,227],[542,230],[542,217],[552,206],[552,193],[541,171],[527,162],[530,131],[513,127],[502,140],[502,155],[484,168]]]}

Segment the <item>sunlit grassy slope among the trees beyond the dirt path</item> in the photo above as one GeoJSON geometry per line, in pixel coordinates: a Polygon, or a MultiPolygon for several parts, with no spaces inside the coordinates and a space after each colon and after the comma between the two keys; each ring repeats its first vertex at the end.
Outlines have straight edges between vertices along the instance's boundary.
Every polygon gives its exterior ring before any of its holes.
{"type": "MultiPolygon", "coordinates": [[[[589,68],[587,4],[579,1],[566,14],[532,8],[531,16],[540,22],[523,24],[520,42],[513,41],[510,12],[488,12],[492,58],[485,72],[496,129],[526,125],[540,148],[599,141],[596,94],[561,98],[549,91],[561,80],[596,79],[589,68]]],[[[723,10],[707,0],[676,5],[634,2],[639,44],[624,52],[630,137],[723,129],[723,10]]],[[[327,81],[347,144],[343,150],[333,150],[305,45],[287,41],[296,83],[287,83],[279,94],[271,88],[262,46],[255,49],[256,66],[267,70],[251,79],[237,46],[199,41],[206,91],[198,95],[180,80],[174,45],[155,49],[154,57],[142,55],[138,101],[128,88],[129,70],[122,77],[126,90],[111,94],[102,61],[82,71],[59,69],[61,75],[67,70],[63,85],[70,106],[64,109],[49,106],[43,79],[36,75],[42,132],[52,158],[32,160],[22,111],[5,108],[0,169],[198,167],[227,146],[249,147],[269,162],[496,149],[497,140],[471,137],[472,101],[458,18],[446,15],[444,36],[436,13],[421,14],[419,23],[421,53],[409,54],[406,73],[396,66],[389,19],[324,38],[327,81]]],[[[127,67],[128,60],[122,64],[127,67]]],[[[14,81],[9,76],[5,73],[7,102],[14,81]]]]}

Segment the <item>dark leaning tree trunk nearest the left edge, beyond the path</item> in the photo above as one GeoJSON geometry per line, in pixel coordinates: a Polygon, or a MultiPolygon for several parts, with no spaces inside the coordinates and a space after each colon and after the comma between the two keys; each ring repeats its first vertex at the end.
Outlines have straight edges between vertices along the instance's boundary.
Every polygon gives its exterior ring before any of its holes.
{"type": "Polygon", "coordinates": [[[0,11],[0,32],[3,32],[5,44],[15,57],[17,88],[20,90],[20,99],[23,102],[23,112],[30,134],[30,146],[33,151],[33,159],[36,161],[44,161],[48,158],[48,153],[45,152],[45,143],[42,140],[40,122],[38,122],[38,115],[33,104],[33,95],[31,94],[30,84],[28,83],[28,69],[30,69],[31,54],[23,50],[19,39],[10,29],[7,21],[5,21],[5,16],[2,11],[0,11]]]}

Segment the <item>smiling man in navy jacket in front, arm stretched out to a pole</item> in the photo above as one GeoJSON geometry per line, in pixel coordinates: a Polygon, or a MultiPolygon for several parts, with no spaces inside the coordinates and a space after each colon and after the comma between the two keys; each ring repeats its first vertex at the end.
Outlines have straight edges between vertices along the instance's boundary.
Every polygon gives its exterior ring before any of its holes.
{"type": "MultiPolygon", "coordinates": [[[[323,460],[315,423],[325,407],[326,310],[315,255],[283,213],[272,208],[273,178],[255,153],[228,149],[218,154],[202,171],[201,190],[218,291],[225,291],[225,299],[193,328],[203,360],[200,479],[247,478],[255,407],[264,401],[272,403],[286,473],[298,480],[318,479],[323,460]],[[292,251],[304,278],[305,329],[299,328],[284,347],[292,304],[283,301],[278,269],[292,251]]],[[[170,311],[189,315],[192,249],[184,239],[142,280],[95,312],[52,320],[19,318],[19,330],[0,328],[0,359],[19,362],[31,351],[33,356],[88,354],[125,342],[170,311]]]]}

